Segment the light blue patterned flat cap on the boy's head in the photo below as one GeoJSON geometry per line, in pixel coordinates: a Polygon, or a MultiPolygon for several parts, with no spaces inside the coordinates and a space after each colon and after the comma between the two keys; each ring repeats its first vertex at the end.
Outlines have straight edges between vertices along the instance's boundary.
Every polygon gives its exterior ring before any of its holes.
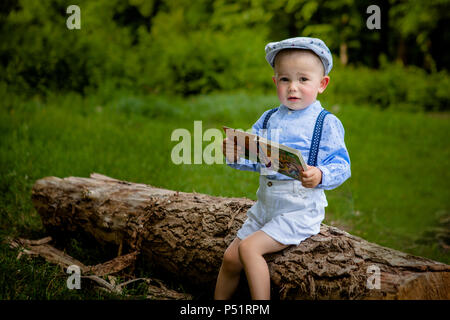
{"type": "Polygon", "coordinates": [[[266,45],[266,60],[272,68],[274,67],[275,56],[284,49],[306,49],[313,51],[322,60],[325,74],[330,73],[333,67],[333,57],[331,56],[330,49],[328,49],[322,40],[309,37],[297,37],[279,42],[270,42],[266,45]]]}

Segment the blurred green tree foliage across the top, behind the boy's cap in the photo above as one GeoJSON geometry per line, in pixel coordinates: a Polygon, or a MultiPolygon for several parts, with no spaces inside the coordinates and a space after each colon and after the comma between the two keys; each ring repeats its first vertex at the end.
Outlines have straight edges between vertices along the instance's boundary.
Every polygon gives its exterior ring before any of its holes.
{"type": "Polygon", "coordinates": [[[447,77],[446,0],[79,0],[81,29],[69,30],[72,2],[2,1],[0,86],[30,94],[105,85],[261,91],[271,87],[265,44],[293,36],[322,38],[337,70],[397,61],[447,77]],[[380,30],[366,27],[371,4],[381,8],[380,30]]]}

